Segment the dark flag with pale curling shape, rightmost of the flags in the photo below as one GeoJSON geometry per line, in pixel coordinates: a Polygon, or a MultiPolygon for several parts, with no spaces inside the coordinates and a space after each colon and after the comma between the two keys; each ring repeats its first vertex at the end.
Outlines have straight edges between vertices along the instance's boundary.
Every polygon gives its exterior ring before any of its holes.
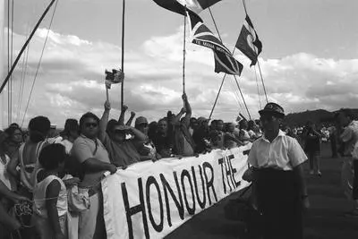
{"type": "Polygon", "coordinates": [[[262,51],[262,43],[248,15],[246,15],[245,21],[243,22],[243,28],[240,31],[235,47],[250,58],[250,66],[257,63],[257,58],[262,51]]]}

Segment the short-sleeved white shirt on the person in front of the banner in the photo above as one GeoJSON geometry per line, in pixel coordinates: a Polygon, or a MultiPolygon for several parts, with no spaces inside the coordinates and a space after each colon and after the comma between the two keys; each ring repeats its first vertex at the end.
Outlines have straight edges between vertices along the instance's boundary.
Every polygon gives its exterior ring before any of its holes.
{"type": "Polygon", "coordinates": [[[298,141],[281,130],[275,140],[269,142],[265,136],[252,143],[248,162],[258,168],[293,170],[307,160],[298,141]]]}

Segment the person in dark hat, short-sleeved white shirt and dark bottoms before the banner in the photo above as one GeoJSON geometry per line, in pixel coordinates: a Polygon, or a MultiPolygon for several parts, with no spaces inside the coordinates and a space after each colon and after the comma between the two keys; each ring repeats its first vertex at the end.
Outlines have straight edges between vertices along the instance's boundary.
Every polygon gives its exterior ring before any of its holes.
{"type": "Polygon", "coordinates": [[[282,107],[268,103],[259,114],[264,134],[252,143],[248,161],[264,238],[302,239],[303,209],[310,206],[303,177],[307,157],[298,141],[279,129],[282,107]]]}

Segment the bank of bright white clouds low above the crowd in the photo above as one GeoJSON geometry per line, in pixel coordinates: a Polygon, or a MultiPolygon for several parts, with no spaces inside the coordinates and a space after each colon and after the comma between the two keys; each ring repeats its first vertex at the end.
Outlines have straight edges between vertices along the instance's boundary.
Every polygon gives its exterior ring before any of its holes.
{"type": "MultiPolygon", "coordinates": [[[[25,89],[30,89],[31,77],[35,73],[46,34],[46,29],[38,30],[31,42],[25,89]]],[[[137,115],[157,120],[166,115],[167,110],[176,112],[182,107],[182,34],[181,27],[172,35],[152,37],[141,46],[126,49],[124,98],[125,104],[137,115]]],[[[14,34],[15,49],[20,49],[24,40],[24,36],[14,34]]],[[[193,115],[209,116],[223,74],[214,73],[214,59],[210,50],[187,43],[186,92],[192,103],[193,115]]],[[[48,115],[54,124],[63,125],[65,118],[79,118],[90,110],[100,115],[106,98],[104,71],[118,67],[120,55],[121,48],[107,42],[90,42],[50,31],[28,118],[48,115]]],[[[238,82],[251,115],[257,117],[259,98],[261,107],[264,105],[260,74],[257,71],[259,97],[254,67],[249,67],[250,61],[242,54],[236,53],[235,57],[244,65],[243,75],[237,78],[238,82]]],[[[324,59],[297,53],[280,59],[260,58],[260,68],[268,99],[283,105],[286,112],[355,107],[358,90],[353,86],[358,80],[358,59],[324,59]]],[[[17,115],[21,64],[13,79],[13,115],[17,115]]],[[[28,95],[29,90],[23,94],[21,114],[28,95]]],[[[117,117],[120,85],[113,86],[110,98],[113,116],[117,117]]],[[[239,112],[247,115],[233,77],[227,76],[213,116],[232,121],[239,112]]],[[[17,121],[21,122],[21,119],[17,121]]]]}

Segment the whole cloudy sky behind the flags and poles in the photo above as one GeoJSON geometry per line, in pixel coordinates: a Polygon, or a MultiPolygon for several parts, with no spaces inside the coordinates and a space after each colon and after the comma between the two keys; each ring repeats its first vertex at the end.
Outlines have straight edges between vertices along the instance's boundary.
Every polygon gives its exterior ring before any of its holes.
{"type": "MultiPolygon", "coordinates": [[[[49,2],[14,1],[13,58],[49,2]]],[[[246,4],[263,42],[260,68],[269,101],[281,104],[287,113],[357,107],[358,1],[246,0],[246,4]]],[[[4,9],[6,27],[6,5],[4,9]]],[[[121,65],[122,0],[59,0],[24,117],[53,10],[30,43],[27,64],[21,58],[13,74],[13,121],[23,121],[24,126],[35,115],[47,115],[59,126],[66,118],[79,118],[87,111],[100,116],[106,99],[104,71],[121,65]]],[[[158,120],[167,110],[177,112],[183,106],[183,17],[151,0],[126,0],[125,10],[124,103],[137,115],[158,120]]],[[[211,10],[224,44],[233,49],[244,20],[242,2],[222,0],[211,10]]],[[[200,16],[214,31],[209,11],[200,16]]],[[[7,29],[4,32],[2,42],[6,43],[7,29]]],[[[186,43],[186,92],[193,115],[208,117],[223,73],[214,73],[212,52],[193,46],[189,31],[186,43]]],[[[257,84],[248,59],[238,51],[234,56],[244,65],[238,81],[251,116],[256,118],[266,102],[258,69],[257,84]]],[[[115,118],[120,92],[120,85],[109,92],[115,118]]],[[[6,90],[1,102],[4,126],[6,90]]],[[[234,78],[227,76],[213,118],[232,121],[239,113],[248,115],[234,78]]]]}

